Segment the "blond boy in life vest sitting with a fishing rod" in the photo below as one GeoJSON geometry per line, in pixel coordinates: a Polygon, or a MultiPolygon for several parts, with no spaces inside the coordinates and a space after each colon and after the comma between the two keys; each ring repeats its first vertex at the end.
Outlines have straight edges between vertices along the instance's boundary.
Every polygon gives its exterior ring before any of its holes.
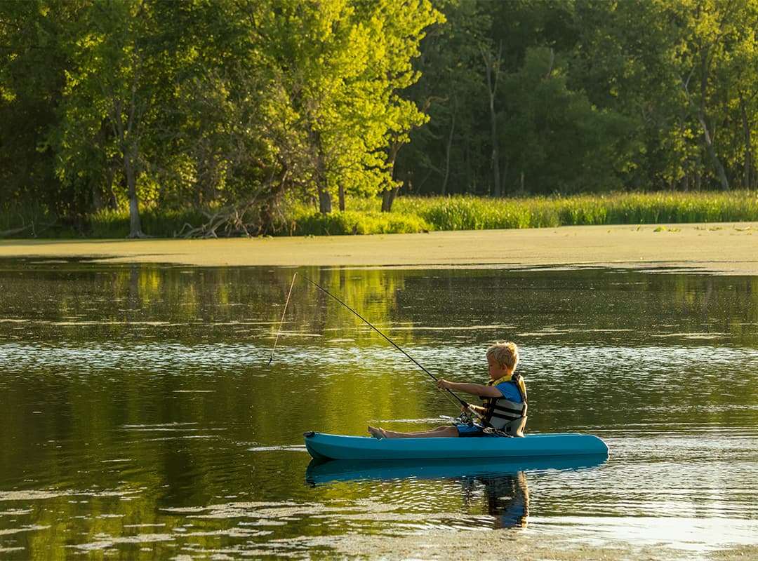
{"type": "Polygon", "coordinates": [[[459,436],[524,436],[526,425],[526,386],[524,380],[515,374],[518,364],[518,348],[515,343],[496,343],[487,349],[487,370],[490,381],[487,384],[448,382],[440,379],[440,390],[462,391],[478,395],[484,400],[484,407],[470,405],[468,409],[481,419],[473,425],[440,426],[437,429],[419,432],[393,432],[369,426],[368,432],[374,438],[427,438],[459,436]],[[487,432],[485,432],[487,429],[487,432]]]}

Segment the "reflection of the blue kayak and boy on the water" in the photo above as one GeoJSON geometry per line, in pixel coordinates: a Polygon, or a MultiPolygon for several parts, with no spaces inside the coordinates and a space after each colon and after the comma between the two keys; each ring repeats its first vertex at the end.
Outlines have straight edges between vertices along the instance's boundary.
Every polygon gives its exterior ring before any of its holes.
{"type": "MultiPolygon", "coordinates": [[[[308,485],[399,479],[447,479],[459,482],[465,505],[486,501],[496,528],[525,528],[529,515],[528,472],[575,470],[600,466],[607,454],[510,460],[312,460],[305,470],[308,485]]],[[[490,521],[491,524],[491,521],[490,521]]]]}

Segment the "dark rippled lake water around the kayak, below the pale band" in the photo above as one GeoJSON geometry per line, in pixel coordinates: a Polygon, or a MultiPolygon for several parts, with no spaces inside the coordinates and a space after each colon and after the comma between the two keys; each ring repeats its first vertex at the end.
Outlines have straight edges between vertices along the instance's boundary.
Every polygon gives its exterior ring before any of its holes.
{"type": "Polygon", "coordinates": [[[0,559],[758,556],[758,277],[0,261],[0,406],[0,559]],[[516,341],[609,457],[310,465],[458,410],[305,277],[434,376],[516,341]]]}

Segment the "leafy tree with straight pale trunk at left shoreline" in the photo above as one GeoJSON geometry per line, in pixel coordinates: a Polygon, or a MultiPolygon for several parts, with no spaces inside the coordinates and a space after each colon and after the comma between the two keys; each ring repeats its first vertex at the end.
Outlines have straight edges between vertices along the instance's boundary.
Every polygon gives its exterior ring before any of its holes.
{"type": "Polygon", "coordinates": [[[64,184],[99,173],[92,169],[89,147],[107,156],[104,167],[123,179],[130,214],[130,238],[142,237],[139,216],[139,179],[146,166],[143,143],[152,132],[150,122],[158,108],[152,104],[155,89],[146,70],[155,63],[150,47],[150,6],[145,0],[85,4],[68,46],[72,67],[61,101],[58,132],[64,184]]]}

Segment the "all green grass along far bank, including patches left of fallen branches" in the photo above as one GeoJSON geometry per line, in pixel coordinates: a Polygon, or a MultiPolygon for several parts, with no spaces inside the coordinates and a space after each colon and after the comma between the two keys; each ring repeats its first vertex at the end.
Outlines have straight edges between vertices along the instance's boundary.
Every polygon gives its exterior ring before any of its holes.
{"type": "MultiPolygon", "coordinates": [[[[350,235],[411,233],[435,230],[478,230],[597,226],[608,224],[711,223],[758,221],[758,193],[656,192],[571,197],[475,198],[399,197],[391,213],[381,212],[381,201],[348,201],[345,212],[326,216],[305,204],[290,204],[276,223],[276,235],[350,235]]],[[[39,210],[0,212],[0,232],[15,238],[124,238],[129,232],[127,210],[104,211],[83,217],[78,225],[55,223],[39,210]]],[[[205,220],[194,210],[167,212],[143,209],[143,230],[158,238],[172,238],[205,220]]]]}

